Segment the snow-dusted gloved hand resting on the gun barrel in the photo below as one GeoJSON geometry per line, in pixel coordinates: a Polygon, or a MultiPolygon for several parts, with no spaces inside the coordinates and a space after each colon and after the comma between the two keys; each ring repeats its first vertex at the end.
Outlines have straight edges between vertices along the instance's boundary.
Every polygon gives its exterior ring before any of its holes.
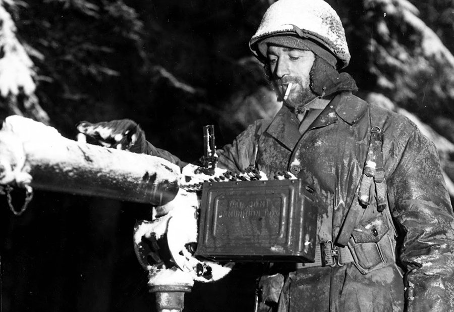
{"type": "Polygon", "coordinates": [[[119,119],[90,123],[81,121],[76,125],[80,132],[78,141],[102,145],[110,148],[125,149],[141,153],[145,149],[145,133],[131,119],[119,119]]]}

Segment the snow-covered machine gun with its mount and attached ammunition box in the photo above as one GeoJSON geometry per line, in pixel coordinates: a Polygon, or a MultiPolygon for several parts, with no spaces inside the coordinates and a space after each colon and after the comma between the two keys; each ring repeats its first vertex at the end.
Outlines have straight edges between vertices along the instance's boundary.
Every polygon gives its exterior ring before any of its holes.
{"type": "Polygon", "coordinates": [[[314,190],[298,179],[216,168],[212,126],[204,128],[202,168],[189,168],[200,187],[186,189],[185,170],[157,157],[78,143],[19,116],[7,118],[0,132],[0,186],[165,206],[155,209],[165,213],[138,224],[134,237],[159,311],[181,310],[194,280],[210,282],[230,272],[231,264],[217,262],[314,259],[314,190]],[[186,248],[188,243],[197,248],[186,248]]]}

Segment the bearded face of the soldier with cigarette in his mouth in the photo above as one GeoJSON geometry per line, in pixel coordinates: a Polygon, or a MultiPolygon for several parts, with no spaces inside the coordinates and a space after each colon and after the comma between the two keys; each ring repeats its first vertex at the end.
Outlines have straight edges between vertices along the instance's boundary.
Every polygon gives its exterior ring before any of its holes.
{"type": "Polygon", "coordinates": [[[288,106],[299,107],[316,97],[309,87],[310,71],[315,61],[312,51],[271,45],[267,57],[270,78],[279,97],[284,98],[289,83],[292,83],[285,99],[288,106]]]}

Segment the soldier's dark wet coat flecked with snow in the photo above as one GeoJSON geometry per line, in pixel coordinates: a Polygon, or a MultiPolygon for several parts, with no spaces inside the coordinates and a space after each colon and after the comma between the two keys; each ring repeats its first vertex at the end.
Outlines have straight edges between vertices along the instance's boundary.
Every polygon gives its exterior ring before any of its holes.
{"type": "MultiPolygon", "coordinates": [[[[274,119],[256,121],[218,150],[218,165],[232,171],[254,165],[268,177],[292,172],[320,198],[317,243],[335,242],[350,207],[358,205],[373,126],[383,133],[385,213],[396,229],[395,259],[367,274],[354,264],[295,269],[287,275],[278,310],[454,310],[452,207],[433,143],[407,118],[343,92],[300,134],[297,117],[282,107],[274,119]]],[[[148,152],[159,155],[154,148],[148,152]]],[[[356,224],[385,213],[372,200],[356,224]]]]}

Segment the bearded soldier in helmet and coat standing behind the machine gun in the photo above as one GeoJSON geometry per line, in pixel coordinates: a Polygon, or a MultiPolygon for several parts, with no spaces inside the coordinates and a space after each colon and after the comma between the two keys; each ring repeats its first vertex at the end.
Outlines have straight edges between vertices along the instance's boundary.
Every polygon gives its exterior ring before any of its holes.
{"type": "MultiPolygon", "coordinates": [[[[350,54],[335,11],[322,0],[279,0],[250,48],[283,106],[218,150],[218,166],[290,171],[321,202],[315,263],[272,268],[258,308],[454,310],[454,219],[437,151],[407,118],[352,94],[355,81],[338,72],[350,54]]],[[[132,121],[119,124],[112,137],[132,127],[126,145],[184,165],[132,121]]]]}

